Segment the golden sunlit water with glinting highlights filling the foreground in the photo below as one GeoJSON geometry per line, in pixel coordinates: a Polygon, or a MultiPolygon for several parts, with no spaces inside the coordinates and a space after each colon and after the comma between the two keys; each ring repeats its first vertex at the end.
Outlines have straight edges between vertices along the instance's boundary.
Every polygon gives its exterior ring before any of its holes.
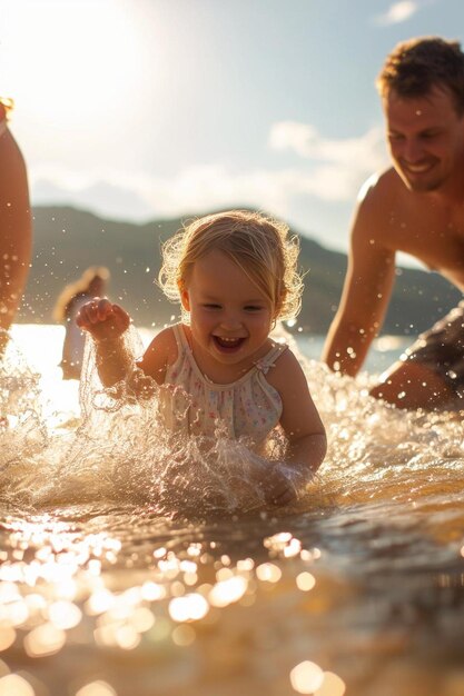
{"type": "Polygon", "coordinates": [[[81,411],[61,341],[17,326],[0,370],[0,696],[464,695],[462,412],[387,408],[299,337],[329,450],[266,509],[243,446],[91,380],[81,411]]]}

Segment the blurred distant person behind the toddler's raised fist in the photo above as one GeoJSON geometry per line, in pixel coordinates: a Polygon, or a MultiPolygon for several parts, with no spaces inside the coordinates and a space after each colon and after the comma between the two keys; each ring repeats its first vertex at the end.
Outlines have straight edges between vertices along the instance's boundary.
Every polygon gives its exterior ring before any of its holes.
{"type": "Polygon", "coordinates": [[[85,335],[76,324],[79,309],[93,299],[103,297],[110,277],[105,266],[91,266],[79,280],[66,286],[53,309],[53,319],[65,324],[66,336],[60,367],[63,379],[79,379],[82,369],[85,335]]]}

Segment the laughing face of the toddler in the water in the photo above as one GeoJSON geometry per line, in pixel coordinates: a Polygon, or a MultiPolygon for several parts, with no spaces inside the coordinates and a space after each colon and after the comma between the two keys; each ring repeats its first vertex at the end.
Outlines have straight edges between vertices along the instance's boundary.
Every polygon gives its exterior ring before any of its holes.
{"type": "Polygon", "coordinates": [[[224,251],[214,249],[195,262],[181,300],[190,312],[194,355],[206,371],[223,365],[238,375],[267,351],[274,308],[224,251]]]}

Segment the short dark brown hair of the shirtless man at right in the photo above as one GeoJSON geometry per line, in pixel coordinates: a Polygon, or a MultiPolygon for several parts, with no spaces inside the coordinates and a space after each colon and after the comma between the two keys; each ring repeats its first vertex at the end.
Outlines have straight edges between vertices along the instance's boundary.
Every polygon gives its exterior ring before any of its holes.
{"type": "Polygon", "coordinates": [[[447,90],[458,116],[464,113],[464,53],[458,41],[440,37],[409,39],[387,56],[377,77],[381,97],[425,97],[433,87],[447,90]]]}

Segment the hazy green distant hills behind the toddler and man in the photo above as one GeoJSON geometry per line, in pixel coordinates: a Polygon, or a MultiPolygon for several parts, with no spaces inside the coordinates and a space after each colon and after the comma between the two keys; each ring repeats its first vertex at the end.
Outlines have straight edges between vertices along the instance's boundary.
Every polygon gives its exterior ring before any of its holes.
{"type": "MultiPolygon", "coordinates": [[[[160,327],[178,316],[177,305],[168,302],[154,281],[161,241],[178,230],[182,220],[137,225],[69,207],[34,208],[33,220],[32,268],[19,321],[51,322],[63,286],[93,265],[110,269],[109,296],[131,314],[136,325],[160,327]]],[[[293,232],[300,237],[300,266],[307,271],[297,326],[325,334],[339,301],[346,255],[322,247],[300,230],[293,232]]],[[[461,298],[461,292],[436,274],[398,269],[383,332],[416,335],[461,298]]]]}

